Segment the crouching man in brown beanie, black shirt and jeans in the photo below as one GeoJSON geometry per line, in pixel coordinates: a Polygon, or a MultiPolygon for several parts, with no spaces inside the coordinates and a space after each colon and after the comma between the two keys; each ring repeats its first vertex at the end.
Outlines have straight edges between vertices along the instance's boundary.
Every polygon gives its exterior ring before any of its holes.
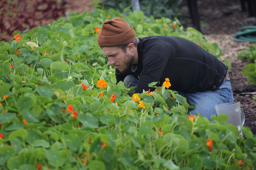
{"type": "Polygon", "coordinates": [[[195,104],[196,112],[210,119],[215,105],[233,102],[227,66],[189,40],[171,36],[136,38],[131,25],[119,17],[103,23],[97,38],[109,64],[116,67],[117,82],[148,91],[149,83],[160,85],[169,78],[170,90],[195,104]]]}

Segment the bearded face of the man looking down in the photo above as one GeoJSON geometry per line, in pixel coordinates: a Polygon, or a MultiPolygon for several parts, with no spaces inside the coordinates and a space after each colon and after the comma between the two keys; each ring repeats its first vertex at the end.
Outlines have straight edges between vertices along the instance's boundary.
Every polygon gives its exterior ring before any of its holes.
{"type": "Polygon", "coordinates": [[[117,47],[103,47],[101,51],[108,58],[109,65],[114,65],[120,72],[125,72],[134,60],[128,48],[126,53],[117,47]]]}

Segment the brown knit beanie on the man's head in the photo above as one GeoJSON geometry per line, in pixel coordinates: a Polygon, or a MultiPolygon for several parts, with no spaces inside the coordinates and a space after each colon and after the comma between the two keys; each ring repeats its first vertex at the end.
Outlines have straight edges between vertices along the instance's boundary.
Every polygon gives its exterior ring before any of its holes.
{"type": "Polygon", "coordinates": [[[133,42],[136,38],[131,25],[119,17],[105,21],[98,34],[98,44],[102,47],[115,47],[133,42]]]}

